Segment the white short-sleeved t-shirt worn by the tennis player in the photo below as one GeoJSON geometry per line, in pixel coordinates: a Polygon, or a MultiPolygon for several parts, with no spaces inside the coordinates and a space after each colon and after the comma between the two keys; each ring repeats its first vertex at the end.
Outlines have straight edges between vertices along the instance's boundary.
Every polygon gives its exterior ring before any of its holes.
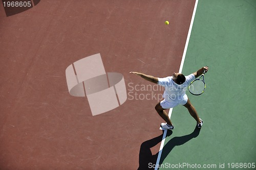
{"type": "Polygon", "coordinates": [[[173,77],[158,78],[158,84],[164,86],[163,98],[167,102],[178,102],[184,99],[188,85],[196,79],[194,74],[185,76],[186,80],[179,85],[174,82],[173,77]]]}

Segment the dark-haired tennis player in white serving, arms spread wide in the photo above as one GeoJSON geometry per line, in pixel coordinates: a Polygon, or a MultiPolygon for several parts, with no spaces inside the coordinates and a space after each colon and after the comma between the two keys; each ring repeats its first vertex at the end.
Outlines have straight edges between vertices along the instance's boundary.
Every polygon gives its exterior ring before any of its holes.
{"type": "Polygon", "coordinates": [[[203,120],[199,118],[195,107],[189,101],[186,95],[186,88],[188,85],[195,80],[198,76],[202,75],[204,70],[208,71],[208,67],[202,67],[198,71],[184,76],[180,73],[174,73],[172,76],[166,78],[156,78],[154,76],[145,75],[140,72],[130,72],[131,74],[138,75],[143,79],[156,83],[158,85],[164,86],[165,90],[163,93],[164,100],[159,102],[155,109],[157,113],[165,120],[166,123],[162,123],[161,127],[164,129],[174,129],[172,122],[168,114],[164,111],[165,109],[174,108],[178,105],[183,105],[187,108],[188,112],[197,121],[197,127],[201,128],[203,125],[203,120]]]}

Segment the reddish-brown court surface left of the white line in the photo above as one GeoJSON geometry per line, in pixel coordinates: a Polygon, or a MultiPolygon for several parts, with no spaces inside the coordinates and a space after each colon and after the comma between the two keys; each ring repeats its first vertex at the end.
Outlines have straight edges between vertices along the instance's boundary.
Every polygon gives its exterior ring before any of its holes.
{"type": "Polygon", "coordinates": [[[147,169],[162,139],[154,107],[163,90],[129,72],[179,71],[194,5],[40,1],[7,17],[1,4],[0,169],[147,169]],[[65,70],[98,53],[128,95],[92,116],[86,97],[69,94],[65,70]]]}

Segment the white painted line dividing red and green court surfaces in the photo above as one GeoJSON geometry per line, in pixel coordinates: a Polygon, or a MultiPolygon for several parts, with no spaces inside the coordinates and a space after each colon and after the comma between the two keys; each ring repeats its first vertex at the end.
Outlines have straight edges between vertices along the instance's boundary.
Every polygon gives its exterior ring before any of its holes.
{"type": "MultiPolygon", "coordinates": [[[[184,61],[185,61],[185,56],[186,56],[186,53],[187,53],[187,46],[188,46],[189,38],[190,38],[190,35],[191,35],[191,31],[192,31],[192,27],[193,27],[196,11],[197,11],[197,4],[198,4],[198,0],[196,0],[194,11],[193,11],[193,15],[192,15],[192,18],[191,18],[191,22],[190,22],[190,26],[189,26],[189,30],[188,30],[188,34],[187,34],[187,40],[186,40],[183,56],[182,56],[181,63],[180,63],[179,73],[181,73],[182,68],[183,68],[183,64],[184,64],[184,61]]],[[[169,118],[170,118],[170,116],[172,116],[172,112],[173,112],[173,108],[170,108],[169,113],[168,113],[169,118]]],[[[159,162],[160,162],[160,159],[161,159],[161,155],[162,155],[162,150],[163,150],[166,134],[167,134],[167,130],[164,130],[163,138],[162,138],[160,149],[159,149],[159,152],[158,152],[158,157],[157,157],[157,162],[156,162],[155,170],[157,170],[158,167],[160,167],[159,166],[159,162]]]]}

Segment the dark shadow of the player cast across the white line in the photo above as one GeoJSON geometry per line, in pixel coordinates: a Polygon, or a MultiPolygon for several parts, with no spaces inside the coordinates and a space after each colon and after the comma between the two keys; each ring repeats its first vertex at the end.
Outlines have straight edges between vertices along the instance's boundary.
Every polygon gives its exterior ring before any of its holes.
{"type": "MultiPolygon", "coordinates": [[[[172,135],[172,133],[173,131],[168,130],[166,137],[172,135]]],[[[170,139],[162,149],[159,166],[163,163],[163,160],[168,156],[168,154],[174,149],[175,146],[182,145],[187,141],[193,138],[196,138],[199,135],[199,133],[200,133],[200,128],[196,127],[195,130],[188,135],[178,136],[170,139]]],[[[151,152],[151,148],[155,147],[155,145],[161,142],[162,138],[163,138],[163,134],[153,139],[146,140],[140,145],[138,170],[155,169],[159,152],[156,155],[153,155],[151,152]]]]}

